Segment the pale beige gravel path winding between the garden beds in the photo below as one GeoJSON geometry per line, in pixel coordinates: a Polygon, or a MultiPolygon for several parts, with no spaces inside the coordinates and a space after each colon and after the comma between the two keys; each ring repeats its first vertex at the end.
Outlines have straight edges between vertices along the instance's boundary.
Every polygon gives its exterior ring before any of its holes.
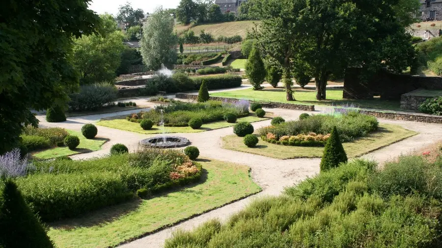
{"type": "MultiPolygon", "coordinates": [[[[325,107],[319,106],[317,107],[317,109],[319,111],[326,110],[325,107]]],[[[303,113],[303,111],[284,109],[266,109],[266,111],[273,112],[275,116],[282,116],[286,120],[296,120],[298,116],[303,113]]],[[[122,114],[129,113],[119,112],[68,118],[68,121],[64,123],[47,123],[46,121],[44,121],[44,116],[38,116],[38,119],[40,120],[40,124],[42,126],[59,126],[73,130],[80,130],[81,126],[85,123],[94,123],[99,121],[100,118],[122,114]]],[[[364,158],[374,159],[380,163],[392,159],[400,155],[401,153],[407,153],[413,151],[414,149],[428,146],[431,143],[437,141],[439,137],[442,136],[442,125],[438,124],[423,124],[416,122],[391,121],[382,119],[380,119],[379,121],[381,123],[401,125],[407,129],[419,132],[419,134],[414,137],[363,156],[364,158]]],[[[255,127],[255,129],[257,129],[261,126],[269,124],[270,120],[267,120],[253,123],[253,126],[255,127]]],[[[112,129],[103,126],[97,126],[97,128],[99,134],[98,137],[108,138],[110,139],[110,142],[107,142],[103,146],[102,150],[74,155],[72,156],[73,158],[91,158],[107,154],[109,153],[111,145],[115,143],[123,143],[128,146],[130,150],[135,150],[138,148],[138,142],[141,139],[153,136],[112,129]]],[[[232,133],[232,127],[226,127],[201,133],[181,133],[174,135],[188,138],[192,142],[193,146],[197,146],[199,148],[201,157],[213,158],[221,161],[234,162],[249,166],[251,168],[251,176],[253,180],[262,187],[263,191],[257,195],[234,202],[232,204],[210,211],[206,214],[200,215],[173,227],[161,230],[144,238],[122,245],[120,246],[121,248],[160,248],[163,246],[164,241],[169,238],[171,236],[171,233],[176,229],[180,228],[190,230],[193,229],[195,226],[198,226],[200,223],[206,222],[207,220],[213,218],[218,218],[221,221],[226,220],[231,214],[243,209],[252,199],[265,195],[279,195],[284,187],[293,185],[294,183],[305,179],[307,176],[312,176],[319,172],[320,159],[318,158],[279,160],[255,154],[222,149],[221,137],[230,135],[232,133]]]]}

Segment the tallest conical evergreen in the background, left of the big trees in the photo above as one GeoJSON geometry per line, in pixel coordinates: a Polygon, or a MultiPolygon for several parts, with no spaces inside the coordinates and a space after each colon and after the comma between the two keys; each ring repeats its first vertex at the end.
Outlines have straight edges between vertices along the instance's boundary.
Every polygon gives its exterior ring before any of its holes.
{"type": "Polygon", "coordinates": [[[264,82],[266,77],[266,68],[256,45],[253,46],[250,52],[249,60],[246,64],[246,74],[249,77],[250,84],[253,86],[253,90],[264,88],[261,86],[261,83],[264,82]]]}

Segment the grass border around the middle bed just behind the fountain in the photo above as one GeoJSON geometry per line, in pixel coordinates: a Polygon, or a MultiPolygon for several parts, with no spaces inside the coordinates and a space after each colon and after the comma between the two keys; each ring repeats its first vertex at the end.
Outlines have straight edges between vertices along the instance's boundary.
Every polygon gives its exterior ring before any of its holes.
{"type": "MultiPolygon", "coordinates": [[[[238,122],[260,122],[268,120],[269,118],[259,118],[255,114],[251,114],[250,116],[238,118],[238,122]]],[[[161,127],[154,125],[149,130],[143,130],[138,123],[129,122],[126,119],[114,119],[114,120],[101,120],[97,123],[97,125],[107,126],[111,128],[131,131],[131,132],[137,132],[137,133],[143,133],[143,134],[155,134],[155,133],[163,133],[163,130],[161,127]]],[[[224,128],[228,126],[233,126],[234,123],[228,123],[225,121],[220,122],[213,122],[213,123],[207,123],[203,124],[201,128],[199,129],[192,129],[190,126],[183,126],[183,127],[165,127],[166,133],[198,133],[198,132],[204,132],[208,130],[213,129],[219,129],[224,128]]]]}

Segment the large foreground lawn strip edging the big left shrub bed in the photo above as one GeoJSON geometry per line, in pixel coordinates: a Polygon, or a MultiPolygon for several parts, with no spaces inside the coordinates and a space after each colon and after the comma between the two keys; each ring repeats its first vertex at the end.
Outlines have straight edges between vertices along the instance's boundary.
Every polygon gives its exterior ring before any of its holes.
{"type": "Polygon", "coordinates": [[[48,234],[58,248],[114,247],[261,190],[247,166],[207,159],[200,163],[207,178],[199,184],[52,223],[48,234]]]}

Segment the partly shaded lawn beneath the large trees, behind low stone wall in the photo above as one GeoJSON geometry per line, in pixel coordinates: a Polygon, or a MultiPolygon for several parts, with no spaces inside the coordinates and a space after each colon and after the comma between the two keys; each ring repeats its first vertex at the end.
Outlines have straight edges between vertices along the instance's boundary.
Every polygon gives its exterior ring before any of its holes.
{"type": "Polygon", "coordinates": [[[318,101],[316,100],[315,90],[296,89],[293,93],[293,97],[296,101],[287,101],[284,89],[281,88],[266,88],[260,91],[254,91],[252,89],[225,91],[210,94],[212,97],[227,97],[238,99],[249,99],[257,101],[276,101],[294,104],[315,104],[315,105],[347,105],[355,104],[360,108],[375,108],[386,110],[401,110],[399,100],[381,100],[374,98],[370,100],[359,99],[343,99],[342,89],[329,89],[327,90],[327,99],[318,101]]]}

